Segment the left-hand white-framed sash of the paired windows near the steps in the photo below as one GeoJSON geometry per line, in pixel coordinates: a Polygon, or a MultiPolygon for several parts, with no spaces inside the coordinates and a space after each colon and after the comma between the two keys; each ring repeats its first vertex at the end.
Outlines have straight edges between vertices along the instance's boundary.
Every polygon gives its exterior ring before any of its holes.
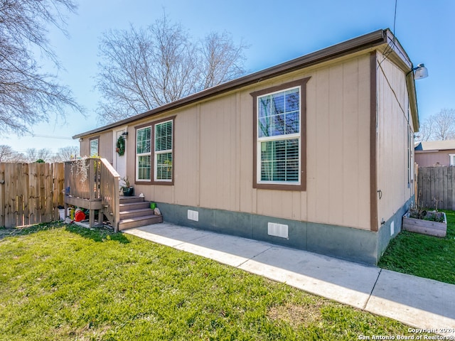
{"type": "Polygon", "coordinates": [[[151,180],[151,126],[137,129],[136,180],[151,180]]]}

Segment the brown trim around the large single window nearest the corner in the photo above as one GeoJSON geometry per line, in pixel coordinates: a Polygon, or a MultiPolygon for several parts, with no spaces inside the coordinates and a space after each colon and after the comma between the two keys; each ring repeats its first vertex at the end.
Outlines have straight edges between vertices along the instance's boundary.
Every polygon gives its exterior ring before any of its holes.
{"type": "Polygon", "coordinates": [[[251,92],[253,97],[253,188],[264,190],[306,190],[306,83],[311,77],[302,78],[293,82],[287,82],[275,87],[251,92]],[[299,185],[257,183],[257,97],[271,92],[286,90],[291,87],[300,87],[300,148],[301,148],[301,174],[299,185]]]}

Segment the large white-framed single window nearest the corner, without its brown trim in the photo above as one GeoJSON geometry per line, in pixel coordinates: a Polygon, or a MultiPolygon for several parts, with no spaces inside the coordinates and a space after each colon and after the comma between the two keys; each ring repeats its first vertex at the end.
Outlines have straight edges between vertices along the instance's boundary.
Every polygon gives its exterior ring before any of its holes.
{"type": "Polygon", "coordinates": [[[301,183],[301,87],[257,97],[257,183],[301,183]]]}

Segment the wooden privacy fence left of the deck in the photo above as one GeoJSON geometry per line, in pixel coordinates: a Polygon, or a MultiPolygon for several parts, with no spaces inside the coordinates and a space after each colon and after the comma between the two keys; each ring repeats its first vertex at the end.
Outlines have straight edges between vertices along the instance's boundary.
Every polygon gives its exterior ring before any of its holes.
{"type": "Polygon", "coordinates": [[[0,163],[0,227],[58,220],[63,163],[0,163]]]}

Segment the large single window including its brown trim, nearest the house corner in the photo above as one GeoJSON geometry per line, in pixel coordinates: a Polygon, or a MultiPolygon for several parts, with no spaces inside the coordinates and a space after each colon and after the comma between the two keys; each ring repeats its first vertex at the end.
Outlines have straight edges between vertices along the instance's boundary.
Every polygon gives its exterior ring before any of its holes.
{"type": "Polygon", "coordinates": [[[305,85],[308,80],[252,93],[255,188],[305,190],[305,85]]]}

